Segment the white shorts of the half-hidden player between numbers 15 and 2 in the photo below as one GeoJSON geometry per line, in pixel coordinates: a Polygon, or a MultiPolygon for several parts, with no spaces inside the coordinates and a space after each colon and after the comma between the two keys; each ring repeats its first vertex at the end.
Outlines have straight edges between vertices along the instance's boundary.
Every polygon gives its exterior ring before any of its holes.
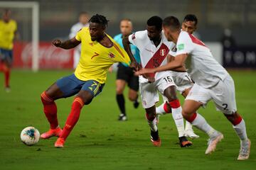
{"type": "Polygon", "coordinates": [[[177,91],[181,94],[193,86],[193,81],[187,72],[172,72],[171,74],[177,86],[177,91]]]}

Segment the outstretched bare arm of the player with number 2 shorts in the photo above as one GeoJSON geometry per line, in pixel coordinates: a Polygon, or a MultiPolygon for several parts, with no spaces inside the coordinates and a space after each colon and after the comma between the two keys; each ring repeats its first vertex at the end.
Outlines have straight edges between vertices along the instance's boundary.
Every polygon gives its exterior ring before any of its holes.
{"type": "Polygon", "coordinates": [[[141,69],[141,70],[137,71],[135,74],[136,75],[142,75],[142,74],[163,72],[163,71],[166,71],[166,70],[175,71],[176,69],[180,69],[184,66],[184,63],[185,63],[187,57],[188,57],[187,54],[177,55],[174,58],[174,61],[169,62],[166,65],[163,65],[161,67],[156,67],[154,69],[141,69]]]}

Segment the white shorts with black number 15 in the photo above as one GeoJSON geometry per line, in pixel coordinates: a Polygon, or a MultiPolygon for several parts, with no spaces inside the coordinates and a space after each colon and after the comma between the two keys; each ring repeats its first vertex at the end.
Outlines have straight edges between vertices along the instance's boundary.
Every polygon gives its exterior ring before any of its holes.
{"type": "Polygon", "coordinates": [[[151,108],[155,103],[159,102],[158,91],[161,95],[164,95],[164,90],[169,86],[176,86],[174,79],[171,77],[171,72],[161,74],[161,77],[153,83],[139,83],[143,108],[151,108]]]}

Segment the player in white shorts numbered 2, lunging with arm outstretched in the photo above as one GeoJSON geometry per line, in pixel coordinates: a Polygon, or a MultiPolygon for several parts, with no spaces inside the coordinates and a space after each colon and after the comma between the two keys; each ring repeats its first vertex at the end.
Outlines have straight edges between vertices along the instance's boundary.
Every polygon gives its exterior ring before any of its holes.
{"type": "Polygon", "coordinates": [[[164,34],[176,42],[177,52],[173,62],[154,69],[142,69],[137,74],[150,74],[173,70],[186,64],[188,73],[195,81],[191,91],[183,104],[182,114],[198,129],[206,132],[210,139],[206,154],[212,153],[223,134],[213,129],[202,115],[196,113],[198,108],[206,106],[211,99],[218,111],[233,124],[233,128],[240,138],[240,152],[238,160],[248,159],[250,155],[250,140],[247,138],[245,121],[238,114],[235,103],[235,86],[230,74],[213,58],[206,45],[193,35],[180,30],[180,23],[174,16],[169,16],[163,22],[164,34]]]}

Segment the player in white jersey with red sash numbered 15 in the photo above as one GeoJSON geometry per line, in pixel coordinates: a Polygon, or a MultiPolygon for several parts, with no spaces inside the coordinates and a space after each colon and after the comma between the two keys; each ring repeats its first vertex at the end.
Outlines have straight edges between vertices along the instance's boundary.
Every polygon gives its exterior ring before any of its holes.
{"type": "MultiPolygon", "coordinates": [[[[152,16],[147,21],[146,30],[138,31],[129,38],[123,39],[124,49],[132,57],[129,43],[139,48],[141,64],[143,68],[154,68],[167,64],[167,55],[172,54],[171,48],[175,44],[168,41],[161,29],[162,19],[159,16],[152,16]]],[[[142,97],[142,106],[146,110],[146,120],[151,128],[151,142],[157,147],[161,145],[156,125],[155,103],[159,101],[158,91],[168,98],[172,115],[178,130],[178,138],[181,147],[191,146],[192,143],[184,136],[184,123],[181,115],[181,106],[176,96],[176,85],[171,71],[159,72],[146,75],[147,79],[139,77],[139,88],[142,97]],[[149,79],[149,81],[148,81],[149,79]]]]}

